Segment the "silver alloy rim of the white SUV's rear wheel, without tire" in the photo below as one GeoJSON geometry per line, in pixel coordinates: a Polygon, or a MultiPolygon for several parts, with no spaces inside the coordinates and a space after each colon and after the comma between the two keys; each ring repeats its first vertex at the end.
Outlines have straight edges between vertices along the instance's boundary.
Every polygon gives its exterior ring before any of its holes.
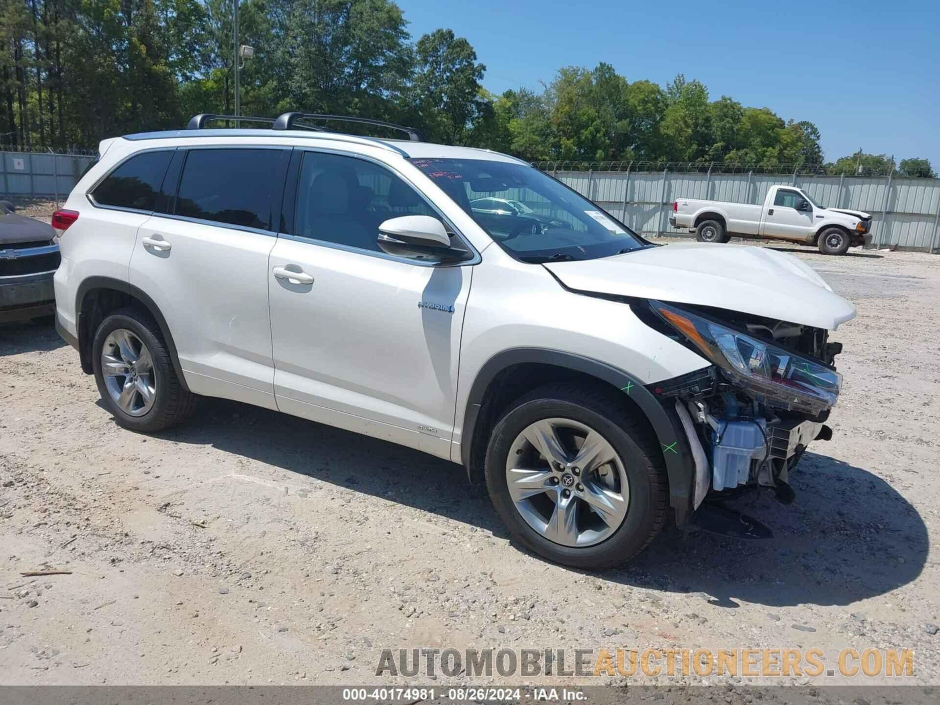
{"type": "Polygon", "coordinates": [[[127,328],[104,338],[102,377],[108,394],[127,415],[143,416],[157,398],[153,358],[143,340],[127,328]]]}

